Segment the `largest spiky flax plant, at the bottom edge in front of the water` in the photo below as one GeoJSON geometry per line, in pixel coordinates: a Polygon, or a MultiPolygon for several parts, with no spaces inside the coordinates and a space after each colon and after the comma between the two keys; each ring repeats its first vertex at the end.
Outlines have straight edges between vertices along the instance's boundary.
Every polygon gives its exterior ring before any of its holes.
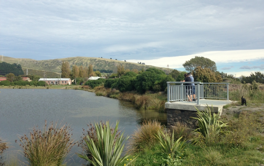
{"type": "Polygon", "coordinates": [[[125,146],[123,142],[124,140],[126,141],[128,137],[123,138],[124,133],[120,136],[116,136],[118,124],[119,122],[117,121],[115,130],[112,132],[109,121],[106,122],[105,126],[101,123],[95,123],[97,140],[94,141],[89,135],[87,135],[87,139],[84,140],[92,158],[88,158],[87,155],[77,155],[89,161],[94,166],[116,166],[123,162],[128,157],[128,154],[125,154],[123,157],[120,156],[125,146]]]}

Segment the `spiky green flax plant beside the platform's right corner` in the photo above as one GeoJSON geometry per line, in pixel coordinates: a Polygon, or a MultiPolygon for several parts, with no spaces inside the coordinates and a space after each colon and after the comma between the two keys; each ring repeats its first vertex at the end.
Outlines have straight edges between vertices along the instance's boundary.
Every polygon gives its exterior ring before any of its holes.
{"type": "Polygon", "coordinates": [[[205,111],[197,110],[196,115],[198,117],[192,117],[198,120],[198,129],[194,132],[198,133],[202,141],[217,141],[221,135],[226,134],[225,128],[229,125],[220,121],[220,114],[212,113],[210,107],[207,105],[205,111]]]}

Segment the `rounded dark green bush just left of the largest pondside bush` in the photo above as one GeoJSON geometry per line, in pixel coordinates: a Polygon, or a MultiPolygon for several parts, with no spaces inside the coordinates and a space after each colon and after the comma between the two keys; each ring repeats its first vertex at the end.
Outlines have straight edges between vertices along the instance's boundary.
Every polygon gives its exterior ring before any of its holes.
{"type": "Polygon", "coordinates": [[[131,91],[134,89],[134,86],[132,84],[133,78],[130,76],[122,76],[117,81],[117,87],[120,92],[126,92],[131,91]]]}

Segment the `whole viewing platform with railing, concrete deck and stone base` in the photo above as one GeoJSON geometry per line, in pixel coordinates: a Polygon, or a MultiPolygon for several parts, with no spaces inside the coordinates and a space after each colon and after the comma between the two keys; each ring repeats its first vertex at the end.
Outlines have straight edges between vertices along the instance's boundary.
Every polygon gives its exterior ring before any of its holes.
{"type": "Polygon", "coordinates": [[[197,121],[191,117],[196,117],[195,107],[199,111],[204,111],[208,105],[212,112],[221,114],[223,106],[232,103],[228,98],[229,83],[167,82],[167,84],[168,101],[165,108],[168,126],[183,122],[194,128],[197,121]]]}

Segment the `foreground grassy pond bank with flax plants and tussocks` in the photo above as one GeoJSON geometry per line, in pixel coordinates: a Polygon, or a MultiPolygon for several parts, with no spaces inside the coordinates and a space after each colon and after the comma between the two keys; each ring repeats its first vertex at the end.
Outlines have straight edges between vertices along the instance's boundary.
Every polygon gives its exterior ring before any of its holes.
{"type": "MultiPolygon", "coordinates": [[[[83,129],[79,140],[64,121],[47,122],[19,136],[24,160],[2,154],[0,165],[81,165],[69,164],[67,154],[74,146],[82,152],[73,156],[82,164],[102,166],[174,166],[174,165],[261,165],[264,163],[263,111],[244,111],[222,117],[197,110],[197,126],[189,129],[176,123],[167,128],[157,120],[144,120],[127,136],[119,121],[93,121],[83,129]]],[[[8,144],[1,141],[2,151],[8,144]]],[[[1,151],[1,152],[2,152],[1,151]]]]}

